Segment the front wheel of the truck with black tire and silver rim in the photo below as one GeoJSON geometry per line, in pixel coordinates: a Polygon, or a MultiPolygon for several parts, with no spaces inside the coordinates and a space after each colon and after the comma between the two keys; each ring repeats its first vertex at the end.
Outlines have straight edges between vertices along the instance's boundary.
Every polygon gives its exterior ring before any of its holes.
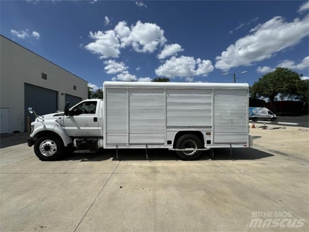
{"type": "Polygon", "coordinates": [[[34,153],[41,161],[60,160],[64,155],[64,151],[62,141],[54,137],[44,136],[37,139],[34,143],[34,153]],[[44,150],[43,152],[41,152],[41,147],[44,150]]]}

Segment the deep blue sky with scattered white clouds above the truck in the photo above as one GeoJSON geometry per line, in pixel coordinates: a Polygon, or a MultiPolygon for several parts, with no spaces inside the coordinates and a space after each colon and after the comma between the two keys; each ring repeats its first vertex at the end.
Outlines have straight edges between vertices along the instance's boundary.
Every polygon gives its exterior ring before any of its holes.
{"type": "Polygon", "coordinates": [[[308,77],[306,1],[1,1],[1,34],[86,79],[308,77]],[[106,18],[107,17],[107,18],[106,18]],[[92,33],[90,33],[92,32],[92,33]],[[242,71],[248,71],[242,74],[242,71]]]}

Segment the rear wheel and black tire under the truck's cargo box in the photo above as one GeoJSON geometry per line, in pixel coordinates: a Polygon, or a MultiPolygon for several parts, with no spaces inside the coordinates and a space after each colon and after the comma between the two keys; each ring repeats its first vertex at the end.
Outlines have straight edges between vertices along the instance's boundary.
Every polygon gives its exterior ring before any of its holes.
{"type": "MultiPolygon", "coordinates": [[[[200,140],[199,137],[197,137],[196,135],[188,134],[188,135],[182,135],[177,140],[176,148],[178,148],[178,149],[188,148],[186,146],[187,146],[187,144],[190,145],[190,143],[192,143],[192,145],[196,145],[197,148],[203,148],[204,147],[203,143],[202,143],[202,141],[200,140]],[[188,142],[189,142],[189,144],[188,144],[188,142]]],[[[191,147],[193,148],[193,146],[191,146],[191,147]]],[[[176,151],[176,154],[182,160],[196,160],[202,153],[202,151],[193,151],[191,153],[190,152],[176,151]]]]}

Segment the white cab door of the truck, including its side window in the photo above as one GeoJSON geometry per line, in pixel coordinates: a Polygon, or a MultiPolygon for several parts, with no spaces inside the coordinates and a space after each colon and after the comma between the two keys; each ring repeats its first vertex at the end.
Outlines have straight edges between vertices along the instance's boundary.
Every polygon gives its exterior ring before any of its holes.
{"type": "Polygon", "coordinates": [[[97,101],[82,101],[64,116],[64,129],[72,137],[99,136],[97,101]]]}

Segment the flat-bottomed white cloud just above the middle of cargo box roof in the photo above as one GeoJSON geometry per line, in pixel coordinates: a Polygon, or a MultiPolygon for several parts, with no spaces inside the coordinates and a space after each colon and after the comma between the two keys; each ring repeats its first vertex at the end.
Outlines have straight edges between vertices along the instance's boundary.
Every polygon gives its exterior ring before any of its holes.
{"type": "Polygon", "coordinates": [[[165,63],[159,66],[155,73],[159,76],[166,77],[190,77],[195,75],[204,75],[214,70],[210,60],[201,60],[197,58],[196,60],[193,57],[181,56],[176,58],[172,56],[169,60],[166,60],[165,63]],[[197,65],[197,69],[196,68],[197,65]]]}

